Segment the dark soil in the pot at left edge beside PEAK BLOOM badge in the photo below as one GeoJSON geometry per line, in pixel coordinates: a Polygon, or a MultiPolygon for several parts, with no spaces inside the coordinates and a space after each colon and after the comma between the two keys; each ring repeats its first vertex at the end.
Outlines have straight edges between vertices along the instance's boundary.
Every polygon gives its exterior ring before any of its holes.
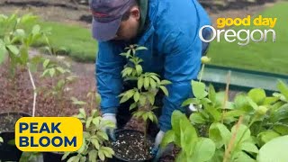
{"type": "Polygon", "coordinates": [[[13,131],[16,121],[22,118],[20,114],[4,114],[0,116],[0,132],[13,131]]]}

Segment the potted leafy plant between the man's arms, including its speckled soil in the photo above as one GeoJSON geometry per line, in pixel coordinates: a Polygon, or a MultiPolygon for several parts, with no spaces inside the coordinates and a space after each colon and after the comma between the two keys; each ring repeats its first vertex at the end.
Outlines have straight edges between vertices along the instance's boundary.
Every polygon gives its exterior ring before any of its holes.
{"type": "Polygon", "coordinates": [[[144,160],[151,157],[149,149],[153,143],[148,140],[147,130],[149,122],[157,123],[157,116],[153,112],[157,109],[157,106],[154,106],[156,94],[159,90],[162,90],[164,94],[168,95],[165,85],[171,84],[171,82],[160,80],[155,73],[143,73],[140,65],[143,60],[137,57],[137,51],[146,49],[145,47],[130,45],[130,47],[125,49],[127,51],[121,53],[121,56],[129,61],[121,71],[121,75],[125,81],[137,82],[137,86],[120,94],[120,103],[125,103],[130,99],[133,100],[133,103],[130,104],[130,110],[136,109],[133,112],[133,116],[144,121],[144,136],[141,133],[133,134],[127,132],[119,135],[117,141],[112,143],[112,146],[116,153],[129,160],[144,160]],[[121,147],[126,148],[126,152],[123,152],[121,147]]]}

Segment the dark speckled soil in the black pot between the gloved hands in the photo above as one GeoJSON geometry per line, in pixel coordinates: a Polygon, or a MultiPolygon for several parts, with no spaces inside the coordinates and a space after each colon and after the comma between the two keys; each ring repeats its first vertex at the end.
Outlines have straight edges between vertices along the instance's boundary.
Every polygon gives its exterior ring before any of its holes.
{"type": "Polygon", "coordinates": [[[117,135],[117,140],[112,142],[112,149],[115,151],[116,157],[126,161],[151,159],[150,150],[152,147],[152,141],[150,139],[146,141],[143,133],[139,131],[121,131],[117,135]],[[145,142],[147,142],[146,146],[145,142]]]}

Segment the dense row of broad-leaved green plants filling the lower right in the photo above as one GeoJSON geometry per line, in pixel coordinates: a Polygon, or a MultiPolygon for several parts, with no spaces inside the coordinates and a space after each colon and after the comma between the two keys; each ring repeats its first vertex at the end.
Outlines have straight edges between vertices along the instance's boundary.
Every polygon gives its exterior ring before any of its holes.
{"type": "Polygon", "coordinates": [[[172,130],[161,143],[161,148],[171,142],[181,148],[176,161],[288,159],[284,151],[288,143],[288,86],[283,81],[277,85],[280,93],[267,96],[265,90],[255,88],[237,94],[232,102],[229,76],[225,92],[216,93],[212,85],[201,81],[192,81],[191,85],[194,97],[183,106],[193,104],[193,113],[187,117],[183,112],[173,112],[172,130]]]}

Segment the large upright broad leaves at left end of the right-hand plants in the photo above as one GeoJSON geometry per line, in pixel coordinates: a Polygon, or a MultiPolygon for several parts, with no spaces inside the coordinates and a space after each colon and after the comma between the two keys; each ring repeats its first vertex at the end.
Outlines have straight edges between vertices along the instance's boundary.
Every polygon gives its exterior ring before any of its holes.
{"type": "Polygon", "coordinates": [[[165,148],[170,142],[182,148],[176,161],[208,161],[213,157],[216,145],[213,140],[198,137],[195,128],[179,111],[172,114],[172,130],[166,131],[161,148],[165,148]]]}

